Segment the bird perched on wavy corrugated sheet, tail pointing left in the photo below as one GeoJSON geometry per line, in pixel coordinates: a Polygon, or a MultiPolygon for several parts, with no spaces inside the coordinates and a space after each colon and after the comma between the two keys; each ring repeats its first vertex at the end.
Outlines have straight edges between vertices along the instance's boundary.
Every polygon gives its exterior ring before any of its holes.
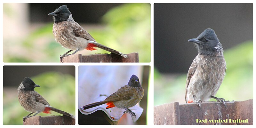
{"type": "Polygon", "coordinates": [[[123,108],[125,109],[123,114],[130,113],[133,117],[136,117],[135,113],[129,108],[139,103],[143,96],[144,89],[140,85],[139,78],[132,75],[127,85],[119,88],[116,92],[109,95],[105,100],[85,105],[80,109],[86,110],[102,104],[107,104],[108,106],[106,109],[113,107],[123,108]]]}

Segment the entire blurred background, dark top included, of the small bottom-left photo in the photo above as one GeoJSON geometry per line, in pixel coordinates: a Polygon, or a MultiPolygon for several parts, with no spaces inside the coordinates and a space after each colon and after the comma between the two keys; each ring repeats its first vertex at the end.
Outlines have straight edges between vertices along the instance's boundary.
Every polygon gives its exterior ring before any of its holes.
{"type": "MultiPolygon", "coordinates": [[[[41,86],[35,91],[52,107],[75,115],[75,66],[4,66],[3,69],[4,125],[22,125],[23,117],[30,113],[20,106],[17,97],[17,88],[25,77],[30,77],[41,86]]],[[[61,115],[51,112],[36,116],[61,115]]]]}

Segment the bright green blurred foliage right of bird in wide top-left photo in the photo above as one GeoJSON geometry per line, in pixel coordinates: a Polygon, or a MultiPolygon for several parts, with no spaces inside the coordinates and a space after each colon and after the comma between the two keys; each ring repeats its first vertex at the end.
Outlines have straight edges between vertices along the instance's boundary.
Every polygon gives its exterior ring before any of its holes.
{"type": "Polygon", "coordinates": [[[140,62],[150,62],[150,4],[122,4],[102,19],[106,28],[90,31],[97,42],[126,54],[139,52],[140,62]]]}

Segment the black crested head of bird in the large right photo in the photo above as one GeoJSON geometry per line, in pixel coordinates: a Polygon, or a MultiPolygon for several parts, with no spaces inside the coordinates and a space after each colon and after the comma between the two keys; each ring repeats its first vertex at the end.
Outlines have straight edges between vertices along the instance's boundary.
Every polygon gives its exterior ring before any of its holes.
{"type": "Polygon", "coordinates": [[[217,45],[219,44],[219,39],[215,34],[214,30],[207,28],[194,39],[189,39],[188,42],[193,42],[196,44],[199,54],[212,54],[217,51],[217,45]]]}

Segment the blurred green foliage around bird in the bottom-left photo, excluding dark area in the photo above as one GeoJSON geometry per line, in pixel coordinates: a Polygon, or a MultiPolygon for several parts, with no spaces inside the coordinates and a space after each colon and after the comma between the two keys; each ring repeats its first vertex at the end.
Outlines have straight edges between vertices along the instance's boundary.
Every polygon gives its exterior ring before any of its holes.
{"type": "MultiPolygon", "coordinates": [[[[48,103],[60,110],[75,115],[75,77],[69,74],[59,72],[45,72],[40,75],[31,77],[31,79],[41,87],[36,87],[35,91],[42,95],[48,103]]],[[[17,86],[18,88],[18,86],[17,86]]],[[[17,88],[13,89],[13,93],[7,94],[3,89],[3,124],[4,125],[22,125],[23,117],[27,116],[27,112],[20,106],[17,98],[17,88]],[[15,95],[15,96],[14,96],[15,95]]],[[[9,92],[9,91],[8,91],[9,92]]],[[[60,115],[51,111],[52,114],[39,113],[36,116],[60,115]]]]}

